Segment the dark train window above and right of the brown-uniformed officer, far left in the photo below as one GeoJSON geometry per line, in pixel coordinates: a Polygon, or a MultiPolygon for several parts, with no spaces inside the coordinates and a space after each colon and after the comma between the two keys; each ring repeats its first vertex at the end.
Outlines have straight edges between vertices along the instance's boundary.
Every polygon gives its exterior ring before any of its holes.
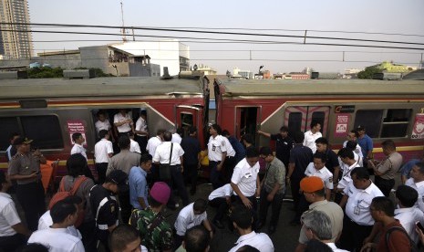
{"type": "Polygon", "coordinates": [[[34,140],[33,145],[37,148],[63,148],[62,133],[56,116],[23,116],[20,120],[24,134],[34,140]]]}

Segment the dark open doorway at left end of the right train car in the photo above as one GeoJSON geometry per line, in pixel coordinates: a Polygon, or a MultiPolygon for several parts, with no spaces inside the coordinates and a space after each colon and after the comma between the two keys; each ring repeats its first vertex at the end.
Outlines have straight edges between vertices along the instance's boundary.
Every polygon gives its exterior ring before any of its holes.
{"type": "Polygon", "coordinates": [[[240,138],[243,134],[251,134],[254,145],[256,142],[254,136],[258,130],[258,121],[260,121],[260,107],[236,107],[235,136],[240,138]]]}

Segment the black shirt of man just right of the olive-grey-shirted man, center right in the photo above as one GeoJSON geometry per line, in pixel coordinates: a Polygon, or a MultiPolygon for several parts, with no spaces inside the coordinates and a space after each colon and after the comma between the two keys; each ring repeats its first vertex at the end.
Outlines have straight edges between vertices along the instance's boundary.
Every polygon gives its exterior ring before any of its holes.
{"type": "Polygon", "coordinates": [[[290,163],[295,163],[295,171],[290,178],[301,179],[305,177],[305,170],[309,163],[313,161],[313,153],[309,147],[302,143],[295,144],[290,152],[290,163]]]}

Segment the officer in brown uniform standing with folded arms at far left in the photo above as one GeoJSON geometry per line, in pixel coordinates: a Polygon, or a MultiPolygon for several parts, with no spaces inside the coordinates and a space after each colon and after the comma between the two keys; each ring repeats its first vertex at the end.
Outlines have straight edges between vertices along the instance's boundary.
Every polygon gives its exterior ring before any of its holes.
{"type": "Polygon", "coordinates": [[[16,180],[16,196],[24,209],[28,228],[36,230],[38,219],[46,212],[40,174],[40,163],[46,163],[46,158],[38,150],[30,151],[31,142],[24,137],[15,140],[17,152],[9,163],[9,177],[16,180]]]}

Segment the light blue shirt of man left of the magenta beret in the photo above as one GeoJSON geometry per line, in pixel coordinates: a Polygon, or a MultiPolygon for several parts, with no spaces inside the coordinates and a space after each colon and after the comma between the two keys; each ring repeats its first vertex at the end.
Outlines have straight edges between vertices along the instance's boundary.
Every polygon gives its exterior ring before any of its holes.
{"type": "Polygon", "coordinates": [[[146,181],[147,173],[139,166],[133,166],[129,171],[129,202],[134,208],[143,210],[138,198],[144,199],[144,204],[149,206],[147,201],[149,187],[146,181]]]}

